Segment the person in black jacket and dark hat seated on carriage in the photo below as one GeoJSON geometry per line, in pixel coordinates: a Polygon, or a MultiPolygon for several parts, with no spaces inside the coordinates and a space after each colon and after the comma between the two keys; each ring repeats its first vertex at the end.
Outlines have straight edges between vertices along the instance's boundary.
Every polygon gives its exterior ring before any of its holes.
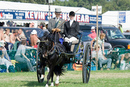
{"type": "Polygon", "coordinates": [[[75,12],[71,11],[69,13],[70,20],[65,22],[64,24],[64,34],[65,34],[65,42],[68,42],[71,44],[70,51],[73,52],[74,44],[78,43],[78,37],[79,34],[79,22],[74,20],[75,12]]]}

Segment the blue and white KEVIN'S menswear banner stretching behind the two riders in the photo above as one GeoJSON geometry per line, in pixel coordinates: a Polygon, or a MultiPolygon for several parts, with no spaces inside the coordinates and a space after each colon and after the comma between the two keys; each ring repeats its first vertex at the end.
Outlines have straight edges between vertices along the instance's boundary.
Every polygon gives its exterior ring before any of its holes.
{"type": "MultiPolygon", "coordinates": [[[[50,12],[50,18],[55,17],[54,12],[50,12]]],[[[67,20],[69,13],[61,13],[61,18],[67,20]]],[[[0,20],[46,20],[49,19],[49,12],[26,11],[26,10],[0,10],[0,20]]],[[[76,14],[75,20],[80,23],[96,23],[96,15],[76,14]]],[[[98,17],[99,24],[102,23],[102,16],[98,17]]]]}

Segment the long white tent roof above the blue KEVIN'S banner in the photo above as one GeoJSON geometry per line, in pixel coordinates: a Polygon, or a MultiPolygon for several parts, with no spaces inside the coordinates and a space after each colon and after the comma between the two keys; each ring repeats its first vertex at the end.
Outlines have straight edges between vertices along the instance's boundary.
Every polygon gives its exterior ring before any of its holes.
{"type": "MultiPolygon", "coordinates": [[[[93,14],[92,11],[90,11],[84,7],[67,7],[67,6],[50,5],[51,12],[54,12],[55,8],[61,8],[62,12],[67,12],[67,13],[69,13],[70,11],[78,10],[76,13],[93,14]]],[[[33,3],[0,1],[0,9],[48,11],[49,6],[42,5],[42,4],[33,4],[33,3]]]]}

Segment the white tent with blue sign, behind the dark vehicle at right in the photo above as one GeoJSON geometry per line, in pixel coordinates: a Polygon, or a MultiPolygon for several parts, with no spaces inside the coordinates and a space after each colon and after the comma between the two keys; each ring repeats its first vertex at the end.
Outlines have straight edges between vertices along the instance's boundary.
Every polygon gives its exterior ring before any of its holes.
{"type": "Polygon", "coordinates": [[[102,24],[111,24],[118,27],[118,24],[122,24],[123,31],[130,30],[130,11],[107,11],[102,14],[102,24]],[[120,12],[124,12],[123,16],[120,12]],[[124,17],[123,19],[121,17],[124,17]],[[123,20],[122,23],[119,21],[123,20]]]}

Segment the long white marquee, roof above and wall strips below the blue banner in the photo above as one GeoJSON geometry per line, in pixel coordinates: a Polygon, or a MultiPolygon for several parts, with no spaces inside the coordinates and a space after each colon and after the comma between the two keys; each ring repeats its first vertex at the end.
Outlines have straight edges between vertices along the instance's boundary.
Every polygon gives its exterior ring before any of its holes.
{"type": "MultiPolygon", "coordinates": [[[[94,13],[84,7],[67,7],[67,6],[57,6],[57,5],[50,5],[50,12],[54,13],[55,8],[61,8],[62,13],[69,13],[70,11],[74,11],[77,14],[86,14],[86,15],[94,15],[94,13]]],[[[42,5],[42,4],[33,4],[33,3],[21,3],[21,2],[9,2],[9,1],[0,1],[0,11],[42,11],[42,12],[49,12],[49,5],[42,5]]],[[[2,14],[2,13],[1,13],[2,14]]],[[[55,15],[54,15],[55,16],[55,15]]],[[[12,16],[11,16],[12,17],[12,16]]],[[[66,17],[66,16],[64,16],[66,17]]],[[[11,19],[12,20],[12,19],[11,19]]],[[[0,19],[2,22],[7,22],[7,19],[0,19]]],[[[35,27],[40,22],[47,22],[47,20],[13,20],[16,23],[31,23],[34,22],[35,27]]],[[[6,24],[5,24],[6,25],[6,24]]]]}

